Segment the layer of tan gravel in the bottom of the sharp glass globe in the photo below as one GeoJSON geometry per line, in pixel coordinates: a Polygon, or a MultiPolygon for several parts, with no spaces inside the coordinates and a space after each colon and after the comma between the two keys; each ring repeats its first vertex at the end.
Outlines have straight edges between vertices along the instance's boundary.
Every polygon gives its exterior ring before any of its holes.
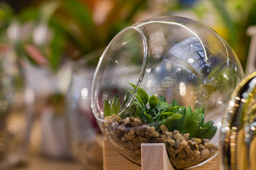
{"type": "MultiPolygon", "coordinates": [[[[115,115],[105,119],[112,117],[115,115]]],[[[180,134],[179,131],[169,132],[164,125],[157,132],[155,127],[142,124],[140,118],[115,117],[100,126],[118,150],[138,164],[141,163],[141,143],[165,143],[170,161],[177,169],[196,165],[218,151],[209,139],[189,138],[189,134],[180,134]]]]}

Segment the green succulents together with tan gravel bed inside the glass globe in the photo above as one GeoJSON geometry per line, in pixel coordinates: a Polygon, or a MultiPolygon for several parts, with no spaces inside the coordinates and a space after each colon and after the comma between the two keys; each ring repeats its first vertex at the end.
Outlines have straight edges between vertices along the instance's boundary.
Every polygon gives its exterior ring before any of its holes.
{"type": "MultiPolygon", "coordinates": [[[[125,96],[123,106],[130,95],[125,96]]],[[[105,119],[113,119],[100,126],[118,150],[132,160],[141,159],[141,143],[165,143],[170,162],[177,169],[194,166],[218,152],[218,147],[210,143],[217,127],[212,121],[204,123],[204,107],[192,111],[177,101],[167,103],[163,96],[148,97],[138,87],[132,105],[116,117],[120,108],[118,96],[104,101],[105,119]]]]}

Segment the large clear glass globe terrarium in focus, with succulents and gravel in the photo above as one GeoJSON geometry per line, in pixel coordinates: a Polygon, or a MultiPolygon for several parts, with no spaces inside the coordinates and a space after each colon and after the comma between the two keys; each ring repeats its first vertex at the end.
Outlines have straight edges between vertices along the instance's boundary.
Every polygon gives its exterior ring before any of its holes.
{"type": "Polygon", "coordinates": [[[92,109],[118,152],[141,164],[141,143],[165,143],[177,169],[218,154],[221,120],[243,78],[236,54],[209,27],[182,17],[125,28],[93,78],[92,109]]]}

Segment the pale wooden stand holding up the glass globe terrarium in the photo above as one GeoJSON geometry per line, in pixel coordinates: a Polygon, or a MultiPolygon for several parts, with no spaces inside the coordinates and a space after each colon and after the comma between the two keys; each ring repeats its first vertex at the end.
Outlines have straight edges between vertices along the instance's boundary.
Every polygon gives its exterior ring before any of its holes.
{"type": "MultiPolygon", "coordinates": [[[[103,143],[104,170],[174,170],[164,143],[141,144],[141,166],[132,163],[117,152],[108,140],[103,143]]],[[[195,170],[220,170],[218,157],[195,170]]]]}

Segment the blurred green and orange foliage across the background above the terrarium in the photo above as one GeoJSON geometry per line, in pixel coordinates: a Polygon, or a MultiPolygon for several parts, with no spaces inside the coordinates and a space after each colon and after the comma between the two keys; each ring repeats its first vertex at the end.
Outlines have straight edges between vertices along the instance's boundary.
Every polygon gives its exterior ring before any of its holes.
{"type": "MultiPolygon", "coordinates": [[[[2,34],[14,21],[27,27],[35,25],[33,38],[23,36],[19,39],[17,52],[26,55],[34,64],[48,63],[53,70],[58,69],[63,56],[77,60],[86,53],[104,48],[124,27],[160,15],[195,18],[209,25],[230,43],[244,66],[250,40],[245,31],[256,24],[254,0],[27,0],[26,5],[5,1],[12,4],[15,11],[1,4],[2,34]],[[31,43],[36,46],[28,45],[31,43]],[[39,59],[33,56],[35,54],[40,54],[39,59]],[[42,57],[44,59],[40,60],[42,57]]],[[[97,59],[91,62],[95,64],[97,59]]]]}

